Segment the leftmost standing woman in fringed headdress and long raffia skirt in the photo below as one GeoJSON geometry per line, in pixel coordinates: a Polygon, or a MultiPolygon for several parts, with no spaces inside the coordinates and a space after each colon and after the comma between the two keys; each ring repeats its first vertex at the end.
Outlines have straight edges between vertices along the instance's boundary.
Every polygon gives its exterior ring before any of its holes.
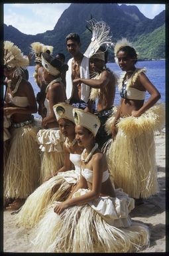
{"type": "Polygon", "coordinates": [[[19,209],[38,187],[40,156],[34,126],[37,112],[32,85],[24,78],[28,58],[10,41],[4,42],[4,74],[7,77],[4,115],[9,127],[9,152],[4,168],[4,196],[7,209],[19,209]],[[11,203],[9,203],[9,201],[11,203]]]}

